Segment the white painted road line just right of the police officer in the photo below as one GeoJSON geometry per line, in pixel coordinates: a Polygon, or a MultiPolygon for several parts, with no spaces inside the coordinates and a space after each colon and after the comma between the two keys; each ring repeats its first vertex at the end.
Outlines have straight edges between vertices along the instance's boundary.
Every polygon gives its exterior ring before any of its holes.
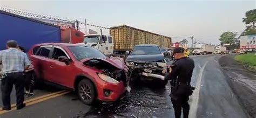
{"type": "Polygon", "coordinates": [[[188,117],[191,117],[191,118],[196,118],[197,117],[197,108],[198,108],[200,85],[201,85],[203,72],[204,72],[204,69],[205,69],[205,66],[206,66],[207,63],[208,63],[208,61],[206,61],[206,63],[204,64],[203,67],[199,66],[199,68],[201,70],[199,72],[196,89],[194,90],[193,95],[190,97],[191,107],[190,107],[190,114],[188,115],[188,117]]]}

